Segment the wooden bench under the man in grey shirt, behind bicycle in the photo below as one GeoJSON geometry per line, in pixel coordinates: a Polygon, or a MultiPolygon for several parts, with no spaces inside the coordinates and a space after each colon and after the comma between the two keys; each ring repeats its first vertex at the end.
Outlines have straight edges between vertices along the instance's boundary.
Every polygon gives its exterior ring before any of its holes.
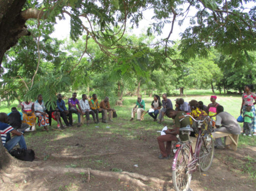
{"type": "Polygon", "coordinates": [[[231,133],[220,132],[220,131],[215,131],[215,132],[212,132],[211,134],[212,134],[212,138],[214,138],[214,139],[226,137],[226,141],[225,141],[226,146],[229,149],[236,151],[239,134],[231,134],[231,133]]]}

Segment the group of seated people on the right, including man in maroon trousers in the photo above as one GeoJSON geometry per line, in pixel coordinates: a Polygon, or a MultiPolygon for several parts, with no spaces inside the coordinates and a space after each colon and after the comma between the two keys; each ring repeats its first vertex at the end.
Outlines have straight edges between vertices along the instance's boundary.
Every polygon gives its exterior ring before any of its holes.
{"type": "MultiPolygon", "coordinates": [[[[216,128],[214,128],[213,131],[240,134],[240,125],[231,114],[224,111],[222,105],[216,102],[216,95],[212,95],[210,97],[211,103],[208,104],[208,106],[204,105],[202,101],[197,101],[195,99],[186,102],[183,98],[177,98],[175,100],[175,109],[173,109],[172,101],[167,98],[166,94],[163,94],[162,98],[163,99],[161,101],[159,95],[154,95],[154,100],[151,103],[152,108],[145,112],[145,101],[141,96],[138,96],[136,106],[132,109],[131,118],[131,120],[133,120],[135,113],[137,112],[138,120],[142,120],[145,113],[149,113],[149,115],[154,118],[154,121],[157,121],[157,116],[159,114],[159,123],[163,121],[164,115],[174,119],[174,128],[167,129],[165,131],[165,135],[160,135],[157,137],[161,151],[161,154],[159,155],[160,159],[170,158],[171,144],[172,141],[178,141],[176,137],[177,134],[179,134],[181,140],[186,140],[188,138],[186,137],[187,135],[181,134],[179,131],[179,128],[192,125],[193,123],[190,117],[185,117],[185,119],[180,121],[180,116],[185,114],[190,114],[194,118],[208,115],[215,120],[216,128]]],[[[216,138],[215,140],[216,148],[224,148],[221,138],[216,138]]]]}

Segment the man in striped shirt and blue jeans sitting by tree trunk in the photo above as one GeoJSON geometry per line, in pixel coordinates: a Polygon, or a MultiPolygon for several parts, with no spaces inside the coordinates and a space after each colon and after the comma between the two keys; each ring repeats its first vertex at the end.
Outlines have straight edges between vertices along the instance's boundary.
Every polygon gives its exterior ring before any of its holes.
{"type": "Polygon", "coordinates": [[[1,112],[0,113],[0,132],[1,132],[2,143],[6,147],[6,149],[8,151],[12,150],[17,143],[20,144],[21,148],[27,149],[27,144],[23,136],[23,132],[15,130],[11,125],[7,123],[8,123],[8,115],[4,112],[1,112]],[[16,136],[11,138],[10,132],[12,132],[12,134],[16,136]]]}

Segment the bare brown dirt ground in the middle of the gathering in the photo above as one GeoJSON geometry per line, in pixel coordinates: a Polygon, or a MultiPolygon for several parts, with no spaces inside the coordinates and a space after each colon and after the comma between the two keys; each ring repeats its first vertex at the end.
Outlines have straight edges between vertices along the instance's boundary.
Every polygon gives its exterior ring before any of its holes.
{"type": "MultiPolygon", "coordinates": [[[[149,186],[153,190],[174,190],[172,186],[172,159],[160,160],[157,133],[145,128],[129,129],[129,133],[113,133],[100,126],[71,127],[64,132],[42,132],[37,138],[34,132],[27,138],[28,145],[36,153],[37,167],[61,166],[65,168],[91,168],[102,171],[137,172],[166,180],[163,187],[149,186]],[[138,167],[134,166],[135,164],[138,167]]],[[[255,190],[255,180],[240,169],[244,156],[256,157],[256,147],[238,148],[236,152],[215,149],[212,166],[206,172],[192,174],[193,190],[255,190]]],[[[33,162],[32,162],[33,163],[33,162]]],[[[252,165],[256,168],[256,164],[252,165]]],[[[148,184],[147,182],[144,182],[148,184]]],[[[0,186],[1,187],[1,186],[0,186]]],[[[121,179],[90,176],[87,173],[56,173],[35,171],[23,182],[13,182],[13,190],[141,190],[137,185],[121,179]]],[[[2,185],[2,188],[5,188],[2,185]]]]}

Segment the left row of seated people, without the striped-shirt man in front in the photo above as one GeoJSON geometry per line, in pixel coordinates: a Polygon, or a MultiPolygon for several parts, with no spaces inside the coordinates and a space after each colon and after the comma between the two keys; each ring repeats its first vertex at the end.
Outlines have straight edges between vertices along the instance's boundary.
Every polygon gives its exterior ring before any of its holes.
{"type": "Polygon", "coordinates": [[[80,101],[76,98],[76,96],[77,94],[74,92],[72,97],[68,99],[67,108],[65,101],[62,99],[62,95],[58,94],[54,108],[52,108],[51,105],[50,107],[48,106],[50,102],[47,101],[45,103],[43,96],[39,94],[35,102],[26,100],[21,103],[22,112],[17,111],[17,108],[12,109],[12,112],[8,114],[9,118],[12,118],[12,122],[10,124],[16,125],[15,123],[19,123],[18,126],[20,127],[22,125],[26,125],[26,131],[33,131],[36,130],[36,119],[38,118],[38,126],[48,130],[48,126],[51,126],[53,118],[58,123],[57,128],[60,129],[61,127],[65,127],[65,125],[73,126],[72,113],[76,113],[78,116],[77,126],[81,126],[81,124],[84,123],[85,117],[88,125],[90,114],[92,115],[95,123],[99,123],[98,113],[102,113],[102,122],[107,122],[107,115],[108,120],[112,121],[112,113],[115,110],[110,107],[108,97],[105,97],[105,99],[99,103],[95,93],[92,94],[92,97],[89,100],[87,99],[86,94],[82,94],[80,101]],[[50,109],[47,109],[47,107],[50,109]],[[63,119],[65,125],[62,123],[61,118],[63,119]]]}

